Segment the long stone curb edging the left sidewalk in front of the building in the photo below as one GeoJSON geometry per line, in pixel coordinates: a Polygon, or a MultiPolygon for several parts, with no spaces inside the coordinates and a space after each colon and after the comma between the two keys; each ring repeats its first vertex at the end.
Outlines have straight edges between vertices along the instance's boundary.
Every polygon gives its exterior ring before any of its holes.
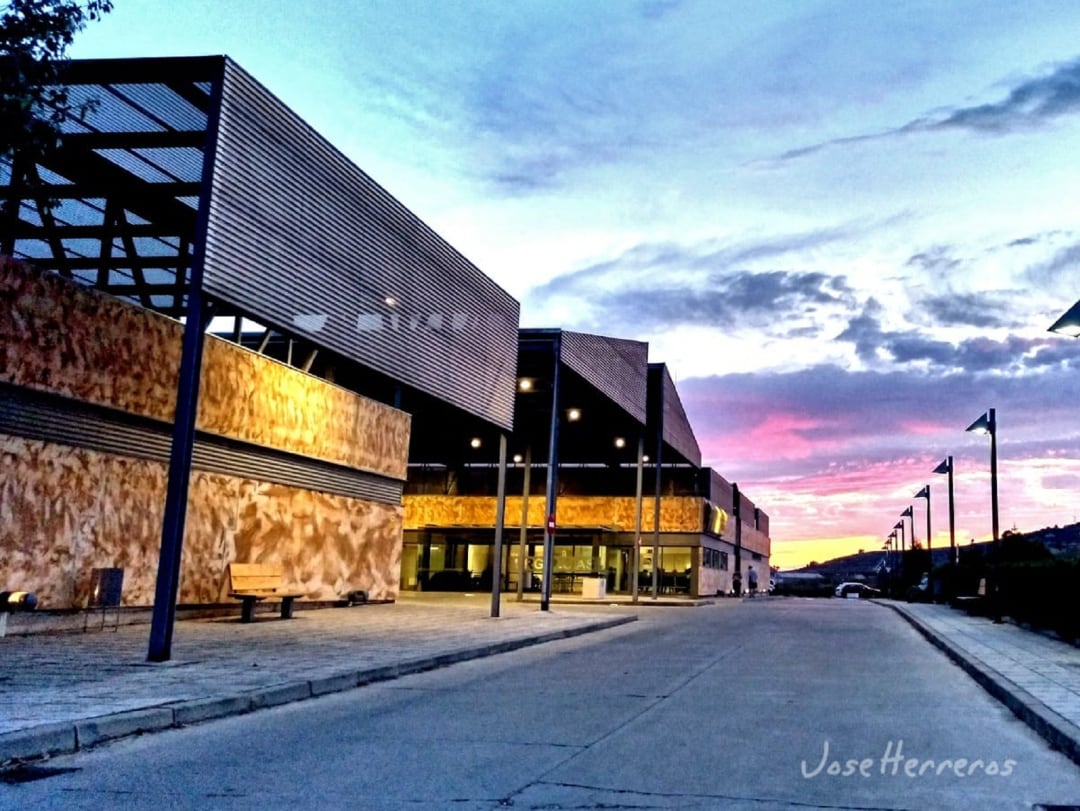
{"type": "Polygon", "coordinates": [[[110,713],[76,721],[44,724],[25,730],[5,732],[0,734],[0,767],[26,760],[37,760],[52,755],[70,754],[119,738],[177,729],[191,724],[244,715],[319,695],[343,692],[377,681],[390,681],[402,676],[437,670],[458,662],[483,659],[496,653],[505,653],[557,639],[568,639],[607,631],[636,620],[637,617],[634,616],[616,617],[577,627],[534,634],[519,639],[463,648],[397,664],[347,671],[315,679],[284,682],[244,693],[151,705],[123,713],[110,713]]]}

